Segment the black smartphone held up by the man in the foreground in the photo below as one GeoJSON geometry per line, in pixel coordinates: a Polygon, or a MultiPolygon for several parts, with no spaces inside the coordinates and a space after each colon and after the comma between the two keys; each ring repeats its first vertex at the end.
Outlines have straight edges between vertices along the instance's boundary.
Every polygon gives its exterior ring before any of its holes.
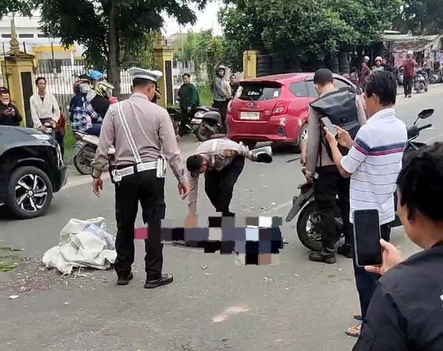
{"type": "Polygon", "coordinates": [[[354,254],[357,267],[383,264],[378,210],[354,211],[354,254]]]}

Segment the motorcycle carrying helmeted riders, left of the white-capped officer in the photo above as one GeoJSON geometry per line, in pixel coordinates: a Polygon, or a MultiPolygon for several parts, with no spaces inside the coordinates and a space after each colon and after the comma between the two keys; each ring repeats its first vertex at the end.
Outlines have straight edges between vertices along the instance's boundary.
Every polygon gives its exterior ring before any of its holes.
{"type": "MultiPolygon", "coordinates": [[[[98,136],[86,134],[84,132],[74,132],[77,139],[75,143],[74,166],[80,174],[91,174],[91,162],[96,158],[98,147],[98,136]]],[[[114,156],[116,150],[114,147],[109,148],[109,156],[114,156]]]]}

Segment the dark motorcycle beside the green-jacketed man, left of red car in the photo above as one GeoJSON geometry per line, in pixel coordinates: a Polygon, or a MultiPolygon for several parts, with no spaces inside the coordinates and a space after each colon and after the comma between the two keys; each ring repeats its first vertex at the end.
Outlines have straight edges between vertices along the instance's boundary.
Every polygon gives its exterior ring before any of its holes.
{"type": "MultiPolygon", "coordinates": [[[[168,114],[171,116],[176,134],[179,134],[181,124],[181,110],[178,107],[168,107],[168,114]]],[[[218,109],[213,107],[200,106],[194,111],[190,120],[190,125],[186,126],[186,134],[194,133],[199,141],[207,141],[221,134],[221,115],[218,109]]]]}

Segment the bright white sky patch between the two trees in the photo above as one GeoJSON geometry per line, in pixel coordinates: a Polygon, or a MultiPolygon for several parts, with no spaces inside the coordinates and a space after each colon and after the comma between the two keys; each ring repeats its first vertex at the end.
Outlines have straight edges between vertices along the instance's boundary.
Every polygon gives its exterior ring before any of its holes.
{"type": "MultiPolygon", "coordinates": [[[[193,9],[196,10],[197,15],[197,23],[195,26],[188,25],[181,28],[181,31],[188,32],[189,30],[193,30],[195,32],[198,32],[200,30],[204,29],[211,29],[213,28],[213,33],[215,35],[221,35],[221,27],[217,21],[217,12],[221,6],[221,2],[217,0],[213,0],[208,5],[206,5],[206,8],[203,11],[197,11],[197,7],[194,6],[193,9]]],[[[163,28],[163,33],[169,37],[170,35],[174,33],[179,33],[180,28],[179,24],[177,24],[177,21],[174,19],[165,16],[165,26],[163,28]]]]}

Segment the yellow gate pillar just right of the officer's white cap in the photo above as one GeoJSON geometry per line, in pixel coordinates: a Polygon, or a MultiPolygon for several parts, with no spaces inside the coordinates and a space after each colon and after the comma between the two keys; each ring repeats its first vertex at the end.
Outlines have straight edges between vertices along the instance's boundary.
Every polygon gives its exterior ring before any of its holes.
{"type": "Polygon", "coordinates": [[[172,87],[172,53],[174,48],[167,46],[161,37],[154,44],[155,69],[163,73],[157,82],[161,93],[161,99],[157,103],[162,107],[174,105],[174,89],[172,87]]]}

